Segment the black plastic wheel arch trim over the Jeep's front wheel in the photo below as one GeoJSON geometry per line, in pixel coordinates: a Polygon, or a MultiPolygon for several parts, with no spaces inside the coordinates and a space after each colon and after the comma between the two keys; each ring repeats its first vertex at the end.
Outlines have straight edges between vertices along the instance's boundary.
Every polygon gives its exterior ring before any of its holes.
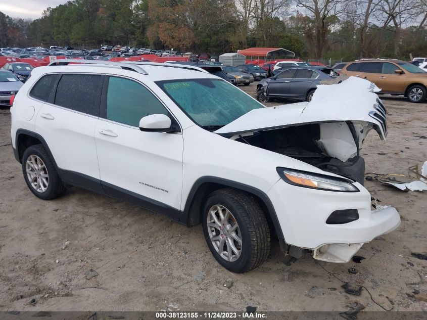
{"type": "Polygon", "coordinates": [[[273,204],[263,191],[240,182],[214,176],[205,176],[196,180],[188,193],[180,222],[187,226],[200,224],[202,222],[203,205],[208,195],[215,190],[223,188],[233,188],[253,196],[265,212],[270,230],[272,230],[280,239],[284,239],[273,204]]]}

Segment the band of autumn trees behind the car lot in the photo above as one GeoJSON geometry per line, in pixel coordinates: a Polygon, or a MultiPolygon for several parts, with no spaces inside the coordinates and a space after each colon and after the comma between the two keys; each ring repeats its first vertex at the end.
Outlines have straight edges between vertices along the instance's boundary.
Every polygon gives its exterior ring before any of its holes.
{"type": "Polygon", "coordinates": [[[296,57],[409,59],[427,53],[427,0],[74,0],[36,20],[0,12],[0,47],[101,44],[296,57]]]}

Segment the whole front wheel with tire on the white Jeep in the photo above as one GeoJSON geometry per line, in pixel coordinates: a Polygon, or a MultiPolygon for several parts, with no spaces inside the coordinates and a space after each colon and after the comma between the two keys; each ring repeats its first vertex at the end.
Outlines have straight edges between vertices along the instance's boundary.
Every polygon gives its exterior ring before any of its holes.
{"type": "Polygon", "coordinates": [[[203,233],[215,259],[232,272],[258,267],[270,252],[264,212],[253,196],[235,189],[220,189],[209,195],[203,233]]]}

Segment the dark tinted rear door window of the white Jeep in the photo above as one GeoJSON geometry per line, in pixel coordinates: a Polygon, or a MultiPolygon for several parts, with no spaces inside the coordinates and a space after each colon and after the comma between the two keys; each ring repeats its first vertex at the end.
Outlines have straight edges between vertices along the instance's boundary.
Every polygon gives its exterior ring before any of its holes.
{"type": "Polygon", "coordinates": [[[102,75],[62,75],[56,90],[55,104],[98,117],[102,80],[102,75]]]}

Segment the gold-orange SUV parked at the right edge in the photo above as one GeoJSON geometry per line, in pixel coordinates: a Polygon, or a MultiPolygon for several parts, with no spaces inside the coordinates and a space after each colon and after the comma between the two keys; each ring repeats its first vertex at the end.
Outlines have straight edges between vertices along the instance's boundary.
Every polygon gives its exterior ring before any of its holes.
{"type": "Polygon", "coordinates": [[[341,73],[368,79],[381,88],[381,93],[404,95],[410,102],[423,102],[427,96],[427,72],[405,61],[356,60],[349,62],[341,73]]]}

